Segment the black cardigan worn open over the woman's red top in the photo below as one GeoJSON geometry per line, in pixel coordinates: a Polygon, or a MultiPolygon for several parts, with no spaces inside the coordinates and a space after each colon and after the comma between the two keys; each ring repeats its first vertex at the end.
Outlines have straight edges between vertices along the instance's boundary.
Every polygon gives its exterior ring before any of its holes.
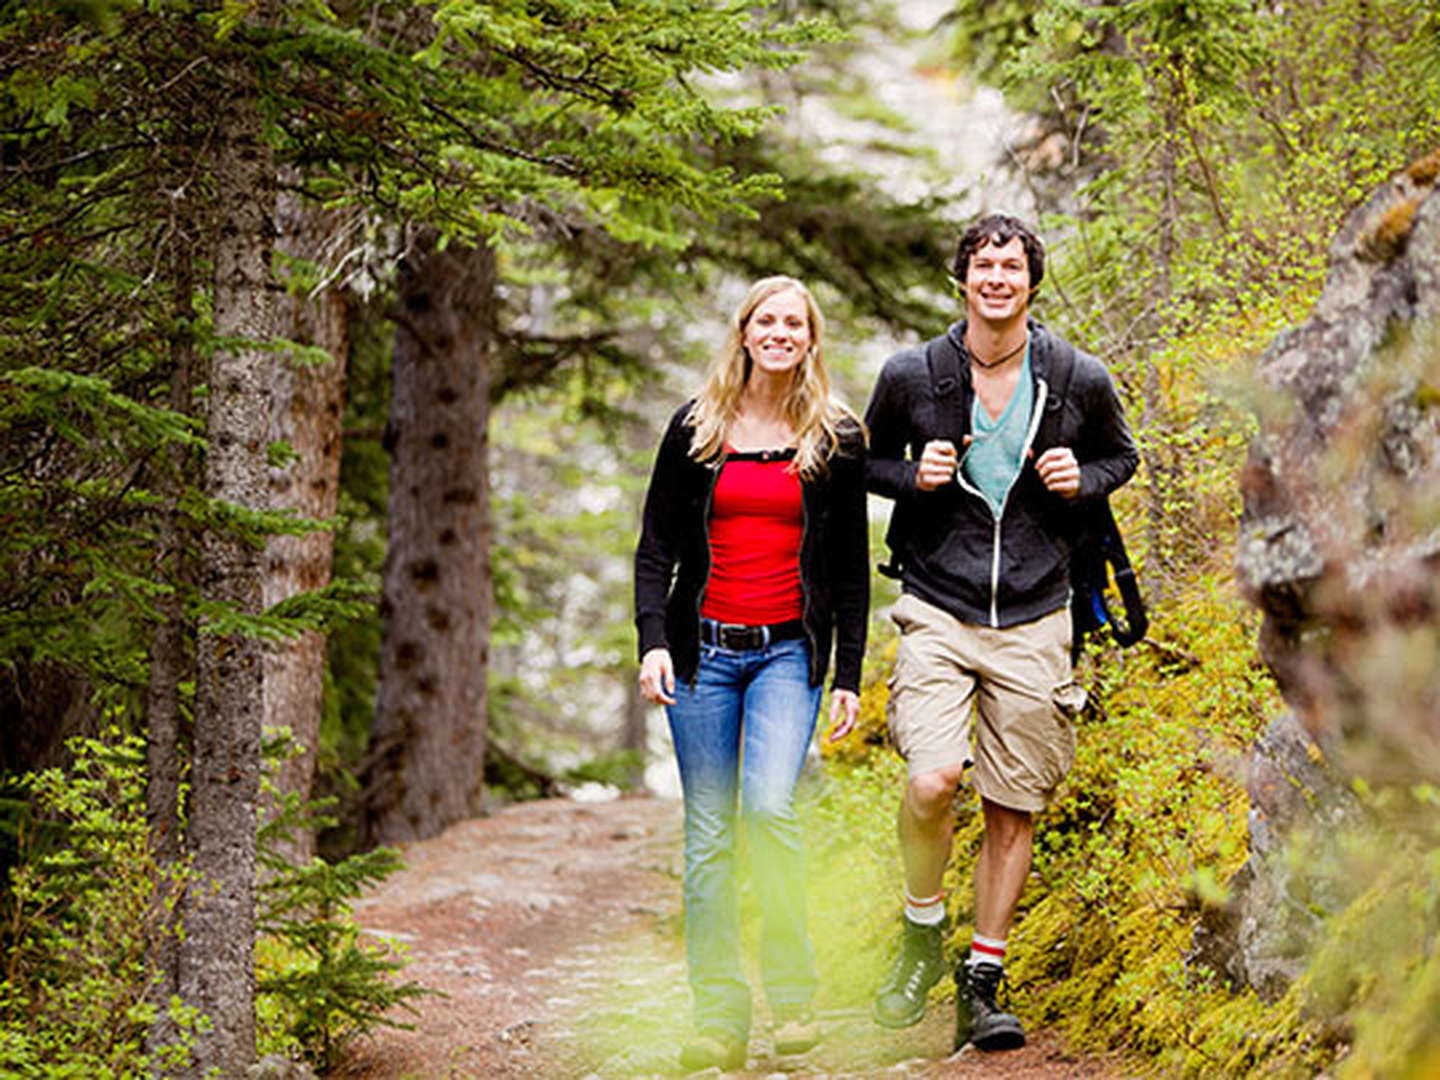
{"type": "MultiPolygon", "coordinates": [[[[687,402],[670,419],[645,494],[635,550],[635,625],[639,655],[668,648],[675,677],[690,683],[700,664],[700,603],[710,575],[710,498],[724,455],[690,456],[694,428],[687,402]]],[[[870,527],[865,516],[865,444],[858,426],[841,432],[841,451],[814,480],[801,481],[804,539],[801,588],[811,685],[825,680],[835,647],[835,687],[860,691],[870,616],[870,527]]]]}

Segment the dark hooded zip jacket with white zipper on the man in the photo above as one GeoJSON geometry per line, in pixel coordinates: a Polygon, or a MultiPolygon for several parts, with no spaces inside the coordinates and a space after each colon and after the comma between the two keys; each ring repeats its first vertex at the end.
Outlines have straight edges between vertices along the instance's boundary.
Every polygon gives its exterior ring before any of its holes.
{"type": "MultiPolygon", "coordinates": [[[[1014,626],[1066,606],[1079,504],[1103,498],[1129,480],[1139,452],[1110,373],[1093,356],[1076,351],[1063,400],[1050,392],[1053,357],[1061,343],[1031,320],[1030,452],[999,518],[963,477],[935,491],[920,491],[914,477],[924,444],[953,438],[956,432],[965,435],[971,428],[975,389],[969,363],[963,363],[965,324],[952,325],[948,337],[962,357],[952,399],[959,415],[943,423],[937,416],[924,347],[890,357],[865,412],[867,484],[876,494],[896,500],[891,513],[906,514],[904,550],[897,554],[907,592],[963,622],[1014,626]],[[1051,416],[1045,416],[1047,410],[1051,416]],[[1035,471],[1035,459],[1051,446],[1068,446],[1080,462],[1080,491],[1074,500],[1048,491],[1035,471]]],[[[956,444],[956,449],[963,462],[965,448],[956,444]]]]}

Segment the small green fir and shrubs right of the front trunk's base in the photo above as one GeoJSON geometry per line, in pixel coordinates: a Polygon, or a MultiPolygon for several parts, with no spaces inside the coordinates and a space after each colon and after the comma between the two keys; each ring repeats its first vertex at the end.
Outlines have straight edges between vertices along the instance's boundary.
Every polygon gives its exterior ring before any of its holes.
{"type": "MultiPolygon", "coordinates": [[[[274,762],[294,753],[288,736],[272,742],[274,762]]],[[[346,1047],[376,1027],[409,1027],[396,1020],[435,994],[392,976],[405,966],[397,946],[369,942],[351,916],[351,903],[402,867],[393,848],[374,848],[330,863],[294,864],[285,844],[301,829],[333,825],[333,801],[302,801],[281,793],[266,773],[271,812],[259,832],[262,868],[256,926],[256,1014],[262,1053],[298,1053],[320,1070],[333,1068],[346,1047]]]]}

